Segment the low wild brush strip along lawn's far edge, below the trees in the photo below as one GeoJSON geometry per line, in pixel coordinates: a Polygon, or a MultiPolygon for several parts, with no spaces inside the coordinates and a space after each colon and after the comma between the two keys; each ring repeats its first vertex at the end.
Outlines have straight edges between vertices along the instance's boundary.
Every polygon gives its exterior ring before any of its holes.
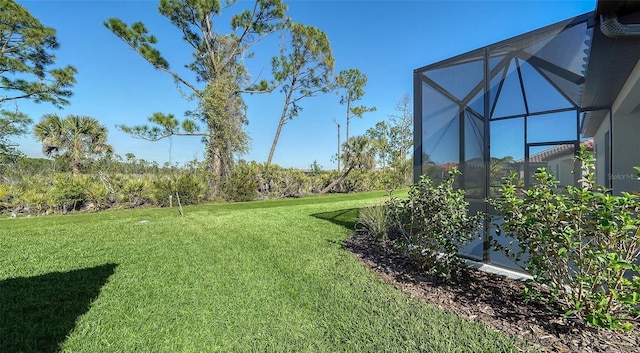
{"type": "MultiPolygon", "coordinates": [[[[131,155],[126,162],[104,158],[72,176],[71,170],[45,159],[21,158],[0,165],[0,214],[48,214],[70,211],[101,211],[109,208],[182,205],[205,201],[250,201],[303,197],[324,189],[340,175],[310,172],[265,163],[239,161],[222,183],[222,193],[211,199],[211,174],[201,163],[183,167],[151,165],[131,155]]],[[[332,192],[383,189],[391,171],[354,171],[332,192]]]]}

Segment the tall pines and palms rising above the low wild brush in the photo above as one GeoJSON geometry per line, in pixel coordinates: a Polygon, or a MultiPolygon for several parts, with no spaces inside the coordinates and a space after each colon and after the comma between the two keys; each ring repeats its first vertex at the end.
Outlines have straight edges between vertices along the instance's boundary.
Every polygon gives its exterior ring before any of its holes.
{"type": "MultiPolygon", "coordinates": [[[[0,0],[0,163],[9,165],[24,159],[11,137],[26,134],[33,121],[12,102],[31,100],[56,107],[69,104],[77,70],[73,66],[55,66],[54,51],[59,44],[55,29],[33,17],[12,0],[0,0]]],[[[362,118],[375,107],[358,105],[364,96],[367,76],[356,68],[334,75],[335,60],[327,35],[320,29],[296,23],[286,15],[281,0],[257,0],[251,6],[238,7],[236,1],[160,0],[158,12],[176,27],[182,40],[192,49],[193,62],[186,67],[195,74],[195,82],[182,77],[157,49],[158,39],[142,22],[127,24],[109,18],[104,25],[155,69],[171,76],[185,98],[197,101],[197,107],[184,112],[184,119],[173,113],[154,112],[145,125],[118,125],[134,138],[158,141],[172,136],[197,136],[205,145],[204,170],[207,199],[224,197],[236,169],[246,167],[239,156],[248,151],[249,136],[246,94],[268,94],[279,90],[284,101],[277,129],[264,163],[272,164],[278,139],[287,122],[298,117],[303,103],[318,94],[338,92],[344,105],[346,139],[335,158],[343,163],[333,180],[318,192],[340,189],[354,170],[373,170],[378,166],[387,174],[387,184],[404,185],[410,179],[412,144],[410,98],[405,95],[396,107],[397,115],[381,121],[362,136],[349,136],[353,117],[362,118]],[[214,26],[223,13],[238,8],[230,17],[229,31],[214,26]],[[251,50],[264,38],[279,32],[286,44],[272,59],[272,79],[253,81],[244,64],[251,50]]],[[[83,170],[95,170],[105,161],[116,161],[108,144],[107,128],[88,116],[61,118],[47,114],[33,126],[43,153],[57,163],[68,163],[73,176],[83,170]],[[101,161],[101,162],[100,162],[101,161]]],[[[117,155],[115,155],[117,156],[117,155]]],[[[129,158],[128,158],[129,159],[129,158]]],[[[126,163],[125,163],[126,164],[126,163]]],[[[316,164],[317,167],[317,164],[316,164]]],[[[6,177],[5,177],[6,179],[6,177]]],[[[7,180],[4,180],[7,182],[7,180]]]]}

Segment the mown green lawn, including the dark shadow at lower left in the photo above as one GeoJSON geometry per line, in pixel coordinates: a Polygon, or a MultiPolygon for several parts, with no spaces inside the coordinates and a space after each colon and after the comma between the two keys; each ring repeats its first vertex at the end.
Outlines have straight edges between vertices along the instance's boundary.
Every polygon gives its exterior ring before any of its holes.
{"type": "Polygon", "coordinates": [[[0,351],[520,351],[341,247],[383,195],[1,220],[0,351]]]}

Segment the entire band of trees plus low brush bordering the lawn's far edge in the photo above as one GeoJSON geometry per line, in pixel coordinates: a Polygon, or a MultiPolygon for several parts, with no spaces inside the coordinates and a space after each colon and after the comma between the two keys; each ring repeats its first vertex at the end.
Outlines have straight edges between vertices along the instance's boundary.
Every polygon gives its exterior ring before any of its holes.
{"type": "MultiPolygon", "coordinates": [[[[234,5],[231,2],[230,5],[234,5]]],[[[69,104],[76,68],[56,67],[56,31],[12,0],[0,0],[0,212],[14,215],[102,210],[112,207],[165,206],[202,201],[246,201],[299,197],[312,193],[393,189],[411,181],[412,112],[408,94],[397,115],[380,121],[364,135],[349,136],[349,122],[375,107],[358,105],[365,94],[366,74],[356,68],[334,75],[334,58],[326,34],[296,23],[281,0],[260,0],[239,8],[229,33],[214,30],[219,1],[161,0],[159,13],[168,18],[193,48],[187,65],[190,82],[173,71],[156,49],[156,37],[142,22],[118,18],[104,25],[155,69],[170,75],[186,99],[198,104],[180,120],[173,113],[150,112],[146,125],[118,125],[133,138],[158,141],[194,136],[205,145],[205,160],[185,165],[158,165],[128,151],[118,155],[108,142],[108,129],[90,116],[46,114],[34,124],[18,102],[30,100],[53,107],[69,104]],[[272,60],[273,78],[255,82],[244,65],[254,45],[279,33],[288,38],[272,60]],[[282,114],[265,162],[244,161],[249,136],[245,94],[280,91],[282,114]],[[272,164],[286,123],[299,116],[302,103],[318,94],[338,93],[346,107],[347,136],[341,149],[327,151],[342,164],[325,171],[317,162],[309,169],[272,164]],[[26,157],[11,138],[33,134],[49,159],[26,157]]],[[[233,6],[231,6],[233,7],[233,6]]],[[[133,60],[134,58],[132,58],[133,60]]],[[[100,112],[96,112],[99,114],[100,112]]],[[[339,136],[338,136],[339,138],[339,136]]],[[[135,152],[135,151],[133,151],[135,152]]],[[[311,161],[310,161],[311,162],[311,161]]]]}

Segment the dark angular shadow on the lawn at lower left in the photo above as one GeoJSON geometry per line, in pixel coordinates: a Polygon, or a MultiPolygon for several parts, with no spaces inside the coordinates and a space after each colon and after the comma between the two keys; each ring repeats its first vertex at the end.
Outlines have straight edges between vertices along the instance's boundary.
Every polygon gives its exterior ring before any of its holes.
{"type": "Polygon", "coordinates": [[[0,281],[0,350],[57,352],[117,265],[0,281]]]}

